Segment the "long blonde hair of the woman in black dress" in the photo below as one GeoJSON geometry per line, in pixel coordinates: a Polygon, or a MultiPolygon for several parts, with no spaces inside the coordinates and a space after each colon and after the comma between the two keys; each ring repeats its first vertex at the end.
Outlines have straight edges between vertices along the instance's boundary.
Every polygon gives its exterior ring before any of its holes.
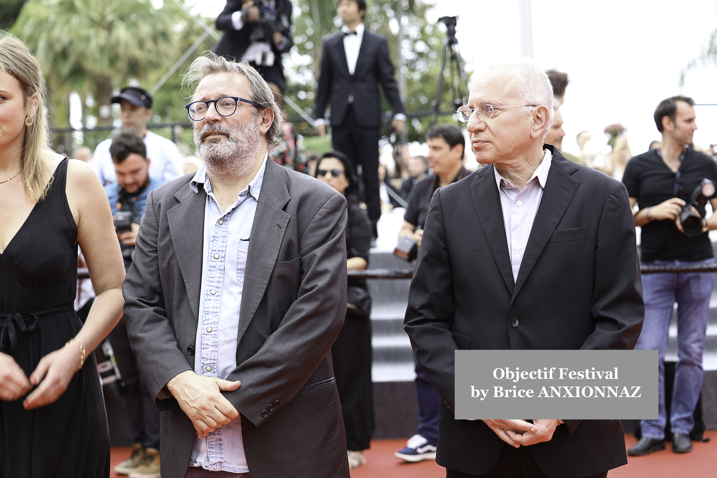
{"type": "Polygon", "coordinates": [[[44,114],[47,89],[42,80],[42,71],[30,49],[19,39],[6,34],[0,36],[0,72],[7,73],[20,83],[28,110],[32,106],[30,97],[35,93],[39,97],[34,115],[26,118],[26,121],[32,120],[32,125],[27,126],[25,123],[20,161],[25,194],[33,202],[42,201],[52,183],[52,178],[47,186],[44,183],[48,169],[45,151],[49,144],[49,128],[44,114]]]}

